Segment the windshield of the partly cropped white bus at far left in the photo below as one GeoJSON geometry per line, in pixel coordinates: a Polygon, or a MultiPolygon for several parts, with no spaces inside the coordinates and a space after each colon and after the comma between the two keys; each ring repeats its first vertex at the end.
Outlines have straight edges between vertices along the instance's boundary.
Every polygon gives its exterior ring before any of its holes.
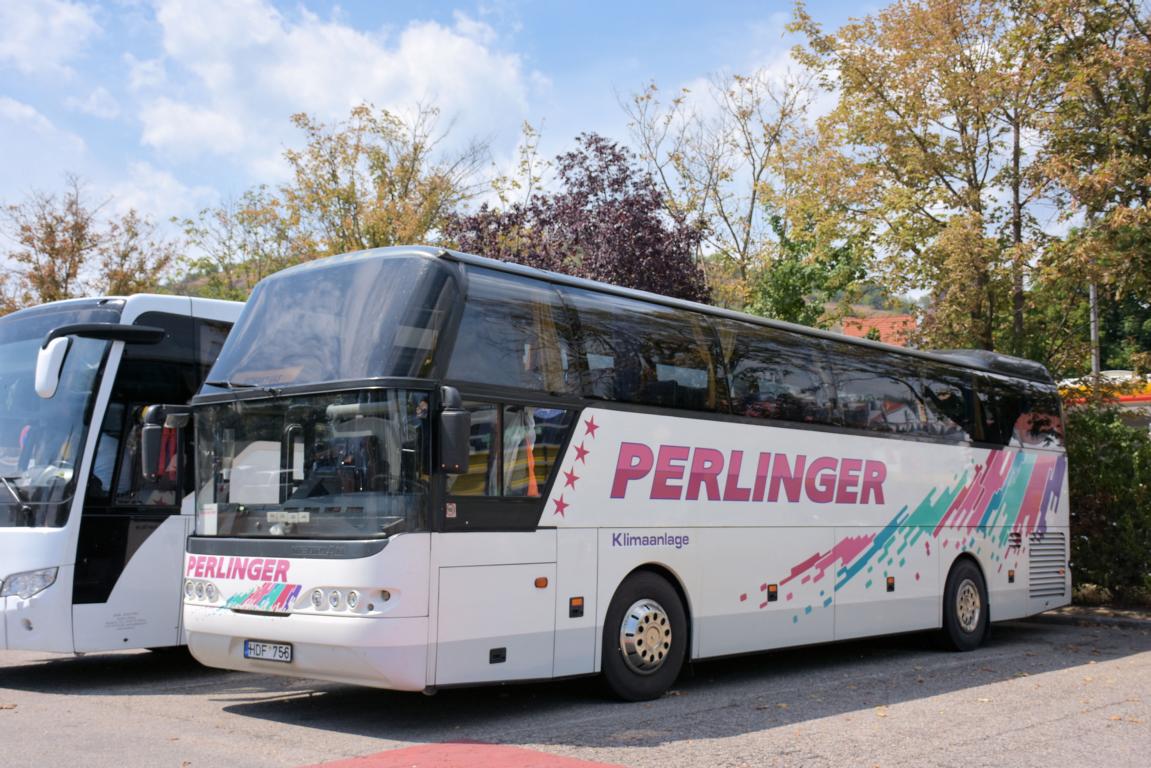
{"type": "Polygon", "coordinates": [[[36,394],[45,335],[119,322],[119,307],[37,307],[0,318],[0,527],[60,527],[76,492],[91,408],[109,342],[73,337],[51,400],[36,394]]]}

